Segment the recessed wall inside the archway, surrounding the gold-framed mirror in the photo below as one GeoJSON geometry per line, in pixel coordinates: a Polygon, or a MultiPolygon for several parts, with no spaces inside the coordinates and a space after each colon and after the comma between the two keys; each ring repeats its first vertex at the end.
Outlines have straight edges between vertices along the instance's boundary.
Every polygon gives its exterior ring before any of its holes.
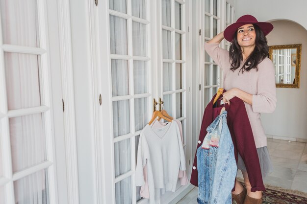
{"type": "Polygon", "coordinates": [[[266,134],[307,141],[307,30],[290,21],[271,23],[269,45],[302,44],[301,78],[299,89],[277,88],[277,108],[273,114],[263,114],[262,123],[266,134]]]}

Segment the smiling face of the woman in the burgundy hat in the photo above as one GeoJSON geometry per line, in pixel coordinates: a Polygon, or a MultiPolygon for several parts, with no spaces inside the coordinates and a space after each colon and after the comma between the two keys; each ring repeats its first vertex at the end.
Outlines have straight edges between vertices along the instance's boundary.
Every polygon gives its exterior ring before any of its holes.
{"type": "Polygon", "coordinates": [[[255,47],[256,31],[253,24],[245,24],[237,30],[237,41],[241,47],[255,47]]]}

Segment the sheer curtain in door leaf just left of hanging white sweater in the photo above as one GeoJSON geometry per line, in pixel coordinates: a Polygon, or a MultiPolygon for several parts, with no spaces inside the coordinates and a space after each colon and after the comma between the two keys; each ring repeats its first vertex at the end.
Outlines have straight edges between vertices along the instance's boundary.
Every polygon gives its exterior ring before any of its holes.
{"type": "MultiPolygon", "coordinates": [[[[132,16],[146,19],[145,0],[131,0],[132,16]]],[[[126,13],[126,1],[109,0],[110,9],[126,13]]],[[[131,55],[128,53],[127,20],[110,15],[110,52],[111,54],[131,55]]],[[[147,50],[147,25],[132,21],[132,51],[133,56],[146,57],[147,50]]],[[[129,61],[125,59],[111,59],[112,92],[114,96],[125,96],[148,92],[148,64],[146,61],[133,61],[133,81],[129,83],[129,61]],[[129,87],[133,86],[133,87],[129,87]]],[[[133,99],[113,101],[113,132],[114,137],[126,135],[130,130],[130,102],[133,99]]],[[[142,130],[147,124],[148,98],[134,99],[135,131],[142,130]]],[[[136,138],[137,139],[137,138],[136,138]]],[[[137,143],[137,141],[135,141],[137,143]]],[[[123,139],[114,143],[115,177],[123,175],[131,170],[131,139],[123,139]]],[[[134,159],[134,158],[133,158],[134,159]]],[[[131,177],[115,183],[116,204],[132,203],[131,177]]],[[[137,195],[137,200],[139,200],[137,195]]]]}

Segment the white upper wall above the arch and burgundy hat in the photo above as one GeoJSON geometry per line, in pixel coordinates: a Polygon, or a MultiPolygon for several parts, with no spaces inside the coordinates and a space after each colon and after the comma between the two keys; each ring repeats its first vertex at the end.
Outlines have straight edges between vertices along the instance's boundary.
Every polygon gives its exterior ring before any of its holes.
{"type": "Polygon", "coordinates": [[[291,20],[307,29],[307,0],[236,0],[236,19],[246,14],[258,21],[291,20]]]}

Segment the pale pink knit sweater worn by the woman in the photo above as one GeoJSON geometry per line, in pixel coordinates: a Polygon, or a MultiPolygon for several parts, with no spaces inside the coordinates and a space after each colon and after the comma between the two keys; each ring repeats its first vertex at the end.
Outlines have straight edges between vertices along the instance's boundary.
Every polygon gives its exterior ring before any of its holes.
{"type": "Polygon", "coordinates": [[[267,146],[266,136],[261,124],[260,113],[272,113],[276,108],[275,69],[272,61],[265,58],[250,71],[230,70],[229,52],[219,47],[219,43],[205,43],[205,51],[223,69],[224,89],[237,88],[253,95],[253,105],[245,103],[256,148],[267,146]],[[240,73],[239,73],[240,71],[240,73]]]}

